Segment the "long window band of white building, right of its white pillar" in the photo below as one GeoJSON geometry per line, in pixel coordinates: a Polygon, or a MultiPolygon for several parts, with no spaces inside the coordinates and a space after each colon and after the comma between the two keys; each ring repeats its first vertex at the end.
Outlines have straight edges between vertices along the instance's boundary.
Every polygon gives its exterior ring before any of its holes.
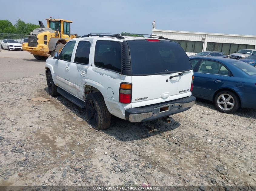
{"type": "Polygon", "coordinates": [[[229,43],[207,43],[206,51],[218,51],[232,54],[240,49],[254,49],[254,45],[249,44],[229,44],[229,43]]]}

